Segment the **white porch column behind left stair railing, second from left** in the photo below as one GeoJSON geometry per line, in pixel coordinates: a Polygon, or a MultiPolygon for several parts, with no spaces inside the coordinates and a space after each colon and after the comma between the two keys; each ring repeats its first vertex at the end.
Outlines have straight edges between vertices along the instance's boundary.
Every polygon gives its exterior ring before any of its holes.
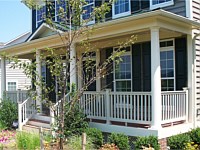
{"type": "MultiPolygon", "coordinates": [[[[41,55],[41,51],[40,50],[36,50],[36,81],[40,81],[41,77],[42,77],[42,63],[40,60],[40,55],[41,55]]],[[[40,85],[36,85],[36,107],[40,109],[40,112],[42,112],[42,88],[40,85]]]]}

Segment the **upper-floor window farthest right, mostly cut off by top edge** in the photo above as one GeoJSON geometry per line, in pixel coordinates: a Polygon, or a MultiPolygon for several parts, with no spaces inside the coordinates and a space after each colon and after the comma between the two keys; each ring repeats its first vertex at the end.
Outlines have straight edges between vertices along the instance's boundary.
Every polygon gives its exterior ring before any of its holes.
{"type": "Polygon", "coordinates": [[[174,4],[174,0],[150,0],[150,9],[166,7],[174,4]]]}

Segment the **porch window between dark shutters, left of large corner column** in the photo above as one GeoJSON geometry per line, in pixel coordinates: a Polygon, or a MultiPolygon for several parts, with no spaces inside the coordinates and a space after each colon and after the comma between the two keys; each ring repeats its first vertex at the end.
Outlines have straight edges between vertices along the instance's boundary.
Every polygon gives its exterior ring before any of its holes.
{"type": "Polygon", "coordinates": [[[115,91],[132,90],[132,60],[130,47],[126,48],[126,53],[120,57],[122,61],[114,63],[115,91]]]}

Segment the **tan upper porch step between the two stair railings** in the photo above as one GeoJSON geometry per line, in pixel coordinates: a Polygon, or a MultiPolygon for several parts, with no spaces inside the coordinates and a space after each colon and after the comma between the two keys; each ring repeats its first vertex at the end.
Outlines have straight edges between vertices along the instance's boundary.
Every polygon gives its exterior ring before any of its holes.
{"type": "Polygon", "coordinates": [[[39,120],[39,119],[29,119],[27,125],[36,126],[36,127],[43,127],[50,129],[50,121],[39,120]]]}

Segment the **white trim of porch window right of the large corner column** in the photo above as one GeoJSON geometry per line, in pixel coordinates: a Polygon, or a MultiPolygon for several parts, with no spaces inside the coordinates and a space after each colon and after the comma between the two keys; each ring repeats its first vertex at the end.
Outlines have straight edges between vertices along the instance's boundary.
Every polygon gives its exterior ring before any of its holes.
{"type": "MultiPolygon", "coordinates": [[[[175,40],[174,39],[166,39],[166,40],[160,40],[160,42],[166,42],[166,41],[172,41],[173,42],[173,46],[166,46],[166,47],[160,47],[160,53],[162,51],[169,51],[172,50],[173,51],[173,65],[174,65],[174,77],[164,77],[162,78],[160,76],[160,79],[162,81],[162,79],[173,79],[174,80],[174,91],[176,90],[176,60],[175,60],[175,40]]],[[[161,62],[161,59],[160,59],[161,62]]],[[[160,73],[161,73],[161,65],[160,65],[160,73]]],[[[162,90],[162,85],[161,85],[161,90],[162,90]]]]}

